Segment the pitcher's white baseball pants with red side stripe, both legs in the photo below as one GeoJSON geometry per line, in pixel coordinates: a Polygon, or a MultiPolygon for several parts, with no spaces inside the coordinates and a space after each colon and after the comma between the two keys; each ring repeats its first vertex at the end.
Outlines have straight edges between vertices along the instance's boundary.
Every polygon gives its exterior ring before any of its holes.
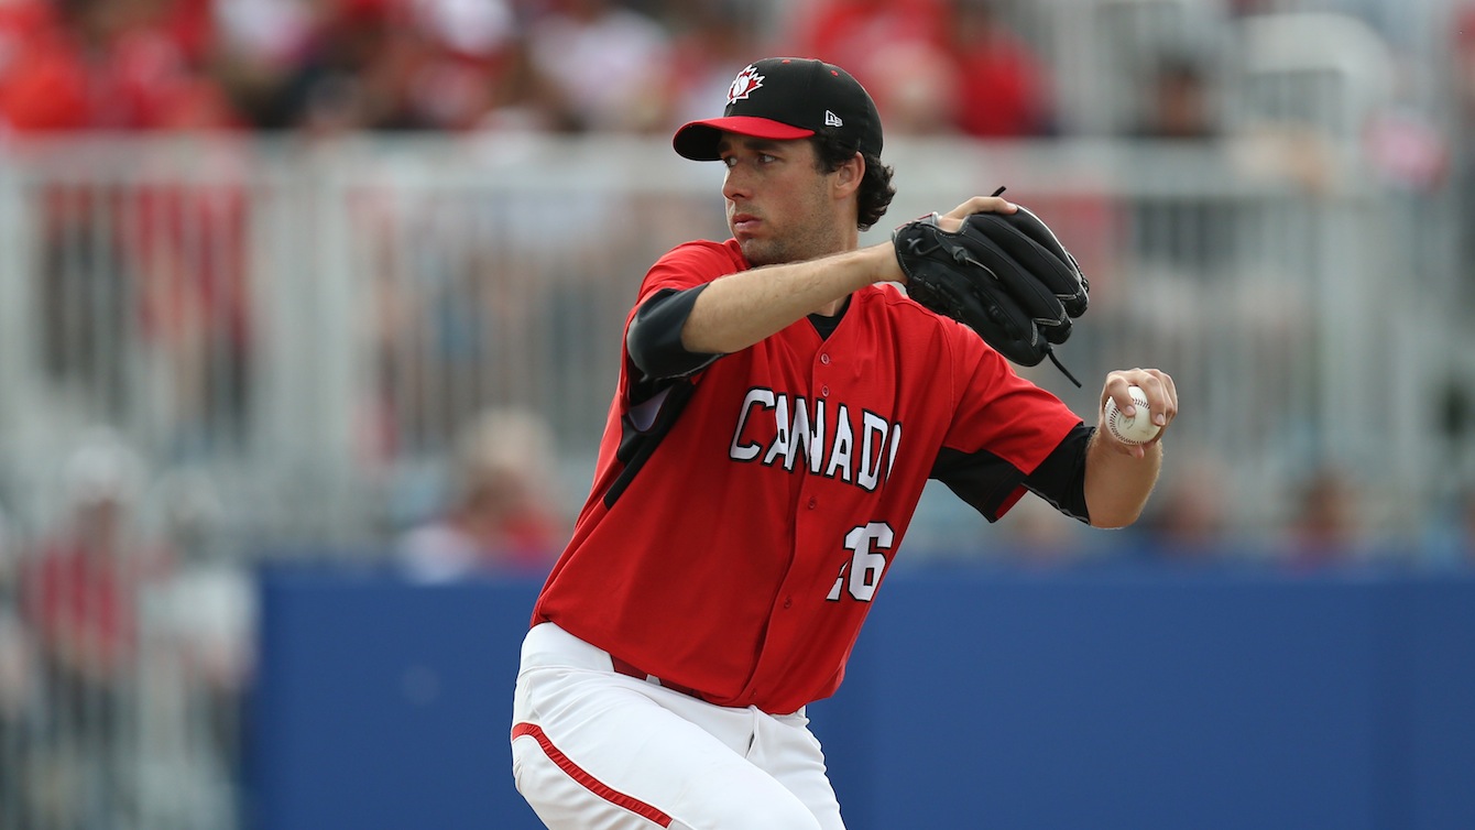
{"type": "Polygon", "coordinates": [[[804,711],[714,706],[528,631],[512,712],[518,792],[553,830],[844,830],[804,711]]]}

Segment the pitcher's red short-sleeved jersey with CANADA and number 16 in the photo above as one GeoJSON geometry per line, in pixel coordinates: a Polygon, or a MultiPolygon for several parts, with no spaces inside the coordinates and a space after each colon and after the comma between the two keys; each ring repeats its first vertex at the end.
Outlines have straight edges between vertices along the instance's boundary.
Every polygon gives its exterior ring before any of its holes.
{"type": "MultiPolygon", "coordinates": [[[[681,245],[636,308],[745,268],[735,240],[681,245]]],[[[625,352],[593,491],[532,622],[773,714],[839,686],[940,457],[993,520],[1081,423],[894,286],[856,292],[829,338],[799,320],[650,400],[636,389],[625,352]]]]}

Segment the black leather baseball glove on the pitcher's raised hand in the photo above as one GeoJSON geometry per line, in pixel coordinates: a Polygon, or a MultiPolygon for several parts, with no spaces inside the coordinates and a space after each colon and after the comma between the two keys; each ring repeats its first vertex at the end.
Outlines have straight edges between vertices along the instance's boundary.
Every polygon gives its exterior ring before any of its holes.
{"type": "Polygon", "coordinates": [[[957,233],[937,223],[932,214],[891,234],[907,295],[969,326],[1006,358],[1037,366],[1049,357],[1071,377],[1050,346],[1071,336],[1090,283],[1061,240],[1025,208],[974,214],[957,233]]]}

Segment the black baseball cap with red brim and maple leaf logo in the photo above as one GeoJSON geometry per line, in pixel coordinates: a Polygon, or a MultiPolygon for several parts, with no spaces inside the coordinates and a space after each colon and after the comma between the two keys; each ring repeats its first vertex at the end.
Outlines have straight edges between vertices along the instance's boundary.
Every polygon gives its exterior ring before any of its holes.
{"type": "Polygon", "coordinates": [[[671,146],[693,161],[717,161],[721,133],[788,142],[838,136],[867,156],[881,156],[881,115],[850,72],[810,57],[764,57],[733,78],[721,118],[692,121],[671,146]]]}

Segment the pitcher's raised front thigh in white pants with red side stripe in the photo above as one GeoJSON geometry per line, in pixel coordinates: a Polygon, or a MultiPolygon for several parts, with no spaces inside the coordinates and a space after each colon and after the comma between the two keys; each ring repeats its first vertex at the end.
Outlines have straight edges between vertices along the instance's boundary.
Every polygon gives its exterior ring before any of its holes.
{"type": "MultiPolygon", "coordinates": [[[[584,668],[540,666],[518,677],[512,733],[518,792],[552,829],[648,827],[819,830],[810,809],[743,758],[736,736],[751,712],[673,712],[678,693],[584,668]]],[[[684,697],[684,696],[683,696],[684,697]]],[[[684,700],[677,706],[686,708],[684,700]]]]}

